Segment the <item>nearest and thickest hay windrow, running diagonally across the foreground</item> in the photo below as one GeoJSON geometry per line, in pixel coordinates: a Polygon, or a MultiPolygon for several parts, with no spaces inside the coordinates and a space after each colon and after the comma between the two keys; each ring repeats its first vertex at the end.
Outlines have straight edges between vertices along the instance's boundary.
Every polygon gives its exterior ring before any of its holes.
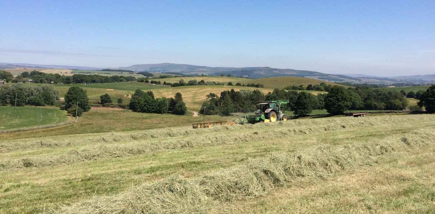
{"type": "Polygon", "coordinates": [[[222,202],[258,197],[278,186],[327,179],[338,172],[374,165],[383,155],[435,146],[434,139],[435,131],[426,129],[370,143],[272,152],[230,169],[205,172],[199,178],[172,175],[116,196],[94,197],[52,212],[204,213],[222,202]]]}

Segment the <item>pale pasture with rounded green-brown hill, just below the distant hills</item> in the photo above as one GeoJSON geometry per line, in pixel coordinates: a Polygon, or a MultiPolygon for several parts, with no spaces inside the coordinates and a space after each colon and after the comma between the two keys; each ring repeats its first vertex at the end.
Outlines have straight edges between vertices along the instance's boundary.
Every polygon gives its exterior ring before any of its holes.
{"type": "Polygon", "coordinates": [[[207,76],[207,77],[177,77],[177,78],[162,78],[162,79],[156,79],[160,80],[161,82],[166,81],[170,83],[178,82],[180,79],[183,79],[185,82],[188,82],[189,80],[197,80],[197,81],[211,81],[211,82],[220,82],[224,83],[225,85],[228,84],[228,82],[231,82],[233,85],[236,83],[241,84],[263,84],[264,88],[268,89],[284,89],[288,85],[309,85],[309,84],[320,84],[322,82],[326,84],[331,85],[337,85],[337,83],[328,82],[328,81],[320,81],[310,78],[303,78],[303,77],[269,77],[269,78],[261,78],[261,79],[246,79],[246,78],[238,78],[238,77],[220,77],[220,76],[207,76]]]}

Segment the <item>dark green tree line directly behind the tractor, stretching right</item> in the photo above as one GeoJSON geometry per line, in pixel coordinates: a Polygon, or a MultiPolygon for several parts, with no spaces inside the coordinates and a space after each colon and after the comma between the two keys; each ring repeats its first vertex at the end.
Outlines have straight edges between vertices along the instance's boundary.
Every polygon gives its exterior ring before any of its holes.
{"type": "MultiPolygon", "coordinates": [[[[432,86],[431,86],[432,87],[432,86]]],[[[432,87],[435,88],[435,85],[432,87]]],[[[429,92],[422,93],[425,101],[421,106],[429,106],[431,102],[429,92]],[[425,95],[423,95],[425,94],[425,95]]],[[[434,94],[435,95],[435,94],[434,94]]],[[[222,91],[220,96],[210,93],[202,103],[200,112],[205,114],[229,115],[233,112],[252,112],[256,110],[256,104],[260,101],[289,100],[284,110],[294,111],[295,115],[308,115],[312,110],[325,109],[331,114],[340,114],[346,110],[405,110],[408,101],[403,93],[386,90],[383,88],[368,88],[360,86],[356,88],[344,88],[334,85],[328,88],[328,93],[313,95],[302,91],[286,91],[274,89],[264,95],[259,90],[254,91],[222,91]]],[[[420,106],[420,104],[419,104],[420,106]]],[[[426,107],[426,110],[428,108],[426,107]]]]}

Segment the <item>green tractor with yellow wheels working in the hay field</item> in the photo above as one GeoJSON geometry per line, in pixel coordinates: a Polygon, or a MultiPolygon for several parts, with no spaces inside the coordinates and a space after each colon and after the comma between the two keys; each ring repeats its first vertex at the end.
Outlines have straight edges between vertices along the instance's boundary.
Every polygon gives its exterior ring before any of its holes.
{"type": "Polygon", "coordinates": [[[239,124],[246,123],[268,123],[278,120],[287,120],[282,105],[288,104],[288,100],[264,101],[257,104],[257,110],[254,114],[246,115],[238,120],[239,124]]]}

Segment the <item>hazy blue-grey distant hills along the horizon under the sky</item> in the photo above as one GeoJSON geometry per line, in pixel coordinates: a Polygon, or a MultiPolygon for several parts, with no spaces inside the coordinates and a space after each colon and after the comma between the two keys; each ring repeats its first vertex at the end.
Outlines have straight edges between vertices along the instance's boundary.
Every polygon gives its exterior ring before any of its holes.
{"type": "MultiPolygon", "coordinates": [[[[69,65],[35,65],[24,63],[0,63],[0,69],[13,69],[25,66],[27,68],[48,68],[48,69],[80,69],[80,70],[100,70],[102,68],[82,67],[82,66],[69,66],[69,65]]],[[[132,65],[128,67],[108,68],[108,69],[121,69],[130,70],[135,72],[146,71],[151,73],[165,73],[177,72],[184,75],[211,75],[224,76],[231,75],[236,77],[249,77],[251,79],[267,78],[267,77],[303,77],[311,78],[319,81],[329,82],[350,82],[350,83],[374,83],[374,84],[393,84],[393,83],[411,83],[411,84],[428,84],[435,82],[435,75],[414,75],[414,76],[401,76],[401,77],[375,77],[369,75],[333,75],[325,74],[317,71],[294,70],[294,69],[280,69],[270,67],[246,67],[246,68],[232,68],[232,67],[207,67],[198,65],[174,64],[174,63],[160,63],[160,64],[141,64],[132,65]]]]}

